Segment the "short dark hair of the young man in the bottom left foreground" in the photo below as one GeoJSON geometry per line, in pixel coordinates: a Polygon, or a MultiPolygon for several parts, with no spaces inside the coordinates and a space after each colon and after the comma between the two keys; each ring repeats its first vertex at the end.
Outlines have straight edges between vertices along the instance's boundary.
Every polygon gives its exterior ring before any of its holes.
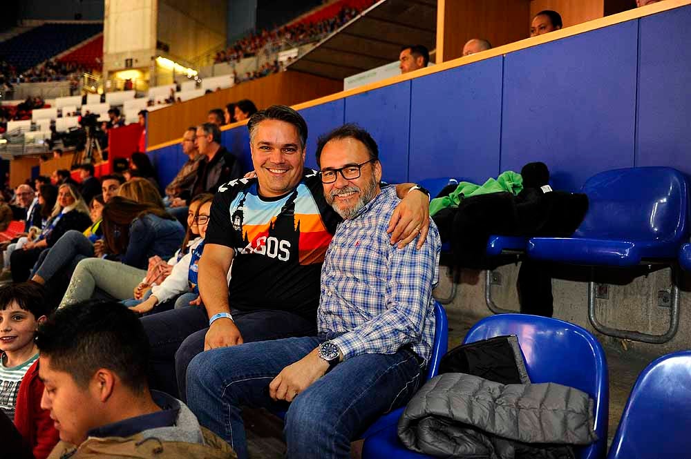
{"type": "Polygon", "coordinates": [[[135,393],[148,389],[149,339],[137,314],[115,301],[87,300],[58,309],[36,334],[51,367],[86,387],[97,369],[118,375],[135,393]]]}

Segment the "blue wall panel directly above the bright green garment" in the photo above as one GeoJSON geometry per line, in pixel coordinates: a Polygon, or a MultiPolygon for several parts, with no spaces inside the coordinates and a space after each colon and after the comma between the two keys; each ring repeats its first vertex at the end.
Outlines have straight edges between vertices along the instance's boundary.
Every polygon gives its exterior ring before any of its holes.
{"type": "Polygon", "coordinates": [[[410,181],[499,172],[502,57],[413,80],[410,181]]]}

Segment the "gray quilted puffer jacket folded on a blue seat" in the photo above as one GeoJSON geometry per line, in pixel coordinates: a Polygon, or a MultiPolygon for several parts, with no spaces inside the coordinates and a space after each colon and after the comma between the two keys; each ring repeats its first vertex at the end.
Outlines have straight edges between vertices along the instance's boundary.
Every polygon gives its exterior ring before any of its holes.
{"type": "Polygon", "coordinates": [[[583,391],[464,373],[428,381],[408,403],[398,435],[409,449],[442,458],[569,458],[569,448],[545,447],[597,440],[593,401],[583,391]]]}

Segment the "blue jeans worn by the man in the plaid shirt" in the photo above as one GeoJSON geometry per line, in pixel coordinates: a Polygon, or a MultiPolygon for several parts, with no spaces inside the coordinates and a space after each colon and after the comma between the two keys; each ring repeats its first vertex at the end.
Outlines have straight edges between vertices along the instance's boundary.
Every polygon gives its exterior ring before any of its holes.
{"type": "MultiPolygon", "coordinates": [[[[285,402],[269,398],[269,383],[324,340],[286,338],[202,352],[187,368],[187,404],[203,426],[245,459],[240,407],[285,409],[285,402]]],[[[350,458],[350,442],[417,391],[420,366],[407,349],[389,355],[357,355],[339,363],[288,406],[283,429],[286,457],[350,458]]]]}

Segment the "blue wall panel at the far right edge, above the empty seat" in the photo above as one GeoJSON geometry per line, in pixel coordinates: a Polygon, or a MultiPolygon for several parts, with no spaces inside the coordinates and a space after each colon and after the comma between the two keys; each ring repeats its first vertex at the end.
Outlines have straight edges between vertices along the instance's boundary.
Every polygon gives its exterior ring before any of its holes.
{"type": "Polygon", "coordinates": [[[691,175],[691,6],[641,18],[636,166],[691,175]]]}

